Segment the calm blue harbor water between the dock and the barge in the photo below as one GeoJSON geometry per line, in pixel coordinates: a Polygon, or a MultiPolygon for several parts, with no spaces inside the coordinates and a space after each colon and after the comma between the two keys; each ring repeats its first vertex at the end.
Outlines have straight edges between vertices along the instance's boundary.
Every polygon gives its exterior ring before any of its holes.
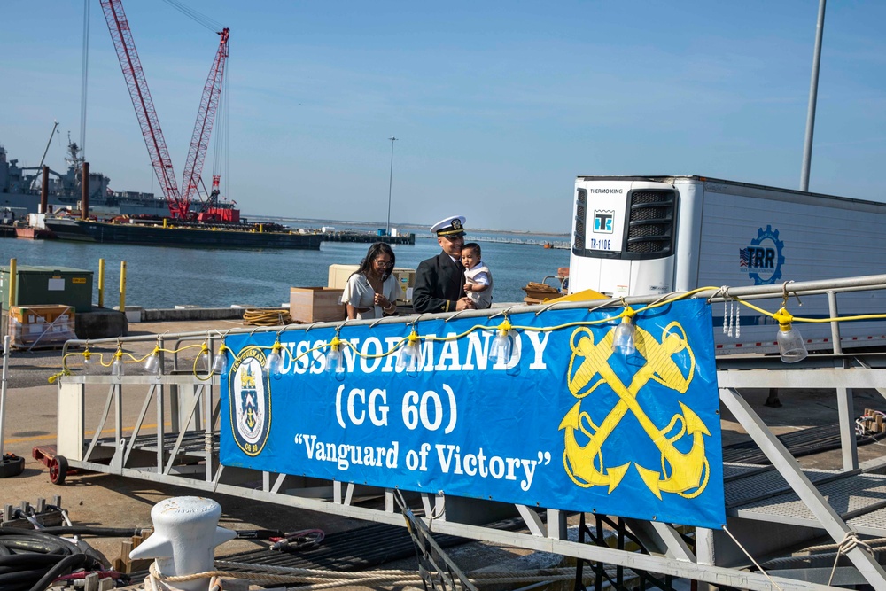
{"type": "MultiPolygon", "coordinates": [[[[558,267],[569,265],[568,250],[484,242],[470,234],[468,240],[482,247],[483,260],[493,272],[497,302],[522,302],[525,284],[540,282],[556,275],[558,267]]],[[[319,252],[212,250],[4,238],[0,239],[0,264],[7,266],[15,258],[19,265],[91,270],[93,300],[97,300],[98,260],[105,259],[105,307],[119,301],[120,261],[127,263],[128,306],[273,307],[289,302],[290,287],[326,285],[330,265],[357,264],[368,248],[368,244],[323,242],[319,252]]],[[[417,238],[416,245],[393,248],[397,266],[405,268],[417,268],[420,261],[439,253],[437,241],[424,237],[417,238]]]]}

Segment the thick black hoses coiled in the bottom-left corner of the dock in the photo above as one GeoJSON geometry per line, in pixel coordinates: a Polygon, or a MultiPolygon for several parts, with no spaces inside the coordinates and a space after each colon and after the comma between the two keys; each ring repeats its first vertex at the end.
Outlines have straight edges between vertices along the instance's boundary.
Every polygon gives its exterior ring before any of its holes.
{"type": "Polygon", "coordinates": [[[45,591],[53,580],[80,568],[104,567],[73,542],[51,533],[0,528],[0,589],[45,591]]]}

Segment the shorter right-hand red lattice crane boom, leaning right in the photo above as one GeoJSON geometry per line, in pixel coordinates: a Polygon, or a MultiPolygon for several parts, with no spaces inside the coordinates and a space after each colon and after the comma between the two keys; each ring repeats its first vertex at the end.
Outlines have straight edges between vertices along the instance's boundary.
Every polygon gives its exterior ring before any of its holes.
{"type": "Polygon", "coordinates": [[[200,175],[203,173],[203,163],[206,160],[206,150],[209,147],[209,136],[212,134],[215,113],[218,111],[221,83],[224,80],[224,66],[228,59],[229,33],[230,29],[227,27],[218,33],[221,35],[219,49],[215,53],[209,76],[206,77],[203,97],[200,99],[200,107],[197,111],[197,121],[194,123],[194,133],[190,138],[188,159],[185,161],[182,177],[183,198],[188,203],[193,199],[200,182],[200,175]]]}

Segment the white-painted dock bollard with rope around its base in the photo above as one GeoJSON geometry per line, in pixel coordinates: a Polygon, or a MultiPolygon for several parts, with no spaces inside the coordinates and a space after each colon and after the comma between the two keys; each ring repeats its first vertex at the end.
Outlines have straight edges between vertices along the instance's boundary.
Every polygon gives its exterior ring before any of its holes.
{"type": "MultiPolygon", "coordinates": [[[[221,505],[198,496],[166,499],[151,509],[154,533],[129,553],[129,558],[153,558],[166,577],[214,570],[215,547],[237,533],[219,527],[221,505]]],[[[170,589],[207,591],[210,579],[166,583],[170,589]]]]}

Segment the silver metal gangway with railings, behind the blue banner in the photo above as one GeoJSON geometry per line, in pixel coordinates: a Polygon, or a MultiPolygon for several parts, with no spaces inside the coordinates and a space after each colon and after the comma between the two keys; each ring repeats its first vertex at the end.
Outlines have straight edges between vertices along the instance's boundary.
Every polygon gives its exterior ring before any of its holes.
{"type": "MultiPolygon", "coordinates": [[[[699,292],[694,297],[709,299],[712,305],[737,297],[755,302],[788,295],[802,297],[804,302],[820,298],[828,300],[828,309],[835,315],[838,298],[884,288],[886,276],[868,276],[783,286],[721,288],[699,292]]],[[[629,298],[620,303],[650,301],[653,299],[629,298]]],[[[564,302],[554,306],[587,308],[588,303],[564,302]]],[[[515,306],[509,311],[538,309],[515,306]]],[[[458,315],[494,317],[501,315],[501,310],[458,315]]],[[[392,317],[376,322],[414,320],[415,317],[392,317]]],[[[334,325],[290,325],[285,330],[334,325]]],[[[281,329],[262,327],[231,332],[281,329]]],[[[563,510],[509,507],[523,519],[525,528],[508,531],[489,526],[498,515],[498,508],[476,499],[460,499],[441,491],[436,495],[415,494],[413,502],[424,510],[425,516],[434,517],[435,533],[571,556],[634,572],[692,579],[699,581],[700,587],[812,590],[834,588],[828,587],[830,581],[833,586],[867,584],[886,590],[886,571],[881,565],[886,557],[886,476],[880,473],[886,470],[886,454],[859,464],[852,402],[852,390],[857,388],[873,388],[886,395],[886,357],[843,351],[836,323],[833,333],[832,351],[812,354],[793,365],[781,363],[777,356],[718,358],[721,408],[734,416],[769,461],[766,465],[724,466],[727,528],[723,530],[626,518],[616,522],[615,518],[588,516],[597,519],[598,531],[600,519],[624,528],[631,540],[640,543],[642,551],[636,551],[624,543],[621,534],[615,548],[570,539],[570,515],[563,510]],[[832,389],[838,404],[835,421],[840,425],[842,469],[803,468],[742,396],[746,388],[832,389]],[[797,552],[804,548],[805,551],[797,552]]],[[[157,346],[177,350],[183,343],[204,342],[214,351],[220,338],[218,332],[189,332],[89,343],[70,341],[66,353],[82,346],[146,346],[148,350],[157,346]]],[[[208,495],[232,494],[257,502],[404,525],[392,489],[372,489],[338,480],[318,482],[313,478],[221,465],[219,376],[195,375],[192,360],[177,354],[161,358],[161,364],[163,371],[159,376],[88,375],[72,364],[74,372],[58,379],[55,461],[56,471],[62,469],[62,479],[66,467],[93,470],[185,486],[208,495]],[[96,413],[95,408],[102,410],[96,413]],[[128,416],[136,417],[131,425],[128,416]],[[110,424],[113,436],[106,437],[104,433],[110,424]],[[86,437],[87,432],[94,435],[86,437]],[[58,462],[64,465],[59,466],[58,462]],[[371,495],[375,495],[377,502],[363,502],[371,495]]]]}

